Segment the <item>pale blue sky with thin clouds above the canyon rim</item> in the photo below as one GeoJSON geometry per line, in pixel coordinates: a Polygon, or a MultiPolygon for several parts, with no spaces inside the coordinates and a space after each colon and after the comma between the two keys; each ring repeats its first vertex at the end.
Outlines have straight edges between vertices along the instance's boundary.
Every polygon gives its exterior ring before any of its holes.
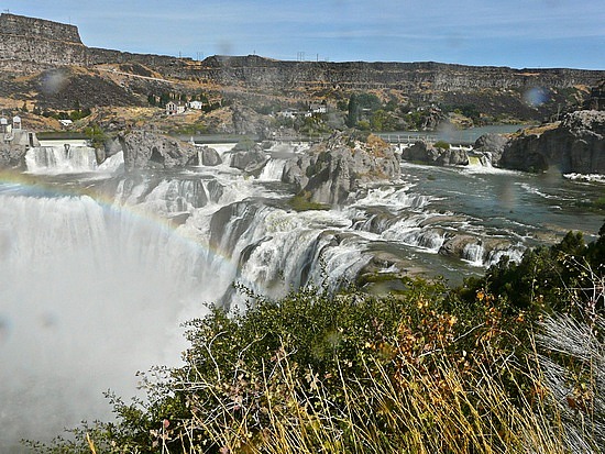
{"type": "Polygon", "coordinates": [[[1,0],[90,47],[201,59],[605,69],[604,0],[1,0]]]}

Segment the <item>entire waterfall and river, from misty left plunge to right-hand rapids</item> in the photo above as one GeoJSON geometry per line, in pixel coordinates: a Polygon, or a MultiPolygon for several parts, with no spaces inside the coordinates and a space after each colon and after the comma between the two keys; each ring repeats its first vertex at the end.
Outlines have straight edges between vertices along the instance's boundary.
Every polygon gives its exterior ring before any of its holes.
{"type": "Polygon", "coordinates": [[[363,273],[459,283],[603,223],[581,203],[603,182],[476,160],[402,163],[346,203],[297,211],[282,176],[309,146],[271,144],[252,176],[229,165],[233,144],[212,145],[217,166],[127,173],[122,153],[97,165],[85,144],[57,143],[2,174],[0,446],[107,418],[105,390],[133,396],[136,370],[175,364],[182,322],[243,304],[234,281],[271,297],[363,273]]]}

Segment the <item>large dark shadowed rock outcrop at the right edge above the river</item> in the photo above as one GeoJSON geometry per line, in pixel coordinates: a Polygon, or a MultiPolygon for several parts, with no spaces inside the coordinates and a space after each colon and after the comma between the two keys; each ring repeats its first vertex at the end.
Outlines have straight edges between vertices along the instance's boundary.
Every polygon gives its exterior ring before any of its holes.
{"type": "Polygon", "coordinates": [[[572,112],[557,128],[513,139],[499,165],[525,171],[554,167],[563,174],[605,174],[605,112],[572,112]]]}

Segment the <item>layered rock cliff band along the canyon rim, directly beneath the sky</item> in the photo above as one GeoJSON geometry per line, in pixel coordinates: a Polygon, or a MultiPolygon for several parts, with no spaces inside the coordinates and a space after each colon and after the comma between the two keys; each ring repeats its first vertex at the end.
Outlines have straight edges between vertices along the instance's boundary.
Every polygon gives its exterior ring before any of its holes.
{"type": "Polygon", "coordinates": [[[29,74],[57,66],[138,63],[164,77],[249,89],[392,89],[411,91],[519,90],[595,86],[603,70],[513,69],[440,63],[284,62],[251,56],[212,56],[202,62],[90,48],[78,29],[41,19],[0,15],[0,68],[29,74]]]}

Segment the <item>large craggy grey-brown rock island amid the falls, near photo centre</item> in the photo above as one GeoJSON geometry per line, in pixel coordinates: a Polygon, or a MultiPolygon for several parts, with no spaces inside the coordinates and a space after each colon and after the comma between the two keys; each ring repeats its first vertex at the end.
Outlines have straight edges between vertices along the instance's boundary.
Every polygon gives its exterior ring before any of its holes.
{"type": "Polygon", "coordinates": [[[364,182],[399,176],[399,163],[387,143],[372,135],[366,143],[351,142],[346,134],[336,133],[293,158],[283,180],[310,202],[334,206],[346,202],[364,182]]]}

